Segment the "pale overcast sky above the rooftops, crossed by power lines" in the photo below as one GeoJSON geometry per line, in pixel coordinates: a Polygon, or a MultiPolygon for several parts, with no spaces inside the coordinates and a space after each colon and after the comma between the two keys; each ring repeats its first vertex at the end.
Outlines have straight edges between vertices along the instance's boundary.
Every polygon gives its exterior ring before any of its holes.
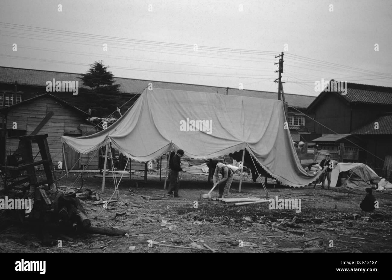
{"type": "Polygon", "coordinates": [[[286,93],[392,86],[390,0],[0,3],[0,66],[85,73],[103,60],[116,77],[276,92],[283,51],[286,93]]]}

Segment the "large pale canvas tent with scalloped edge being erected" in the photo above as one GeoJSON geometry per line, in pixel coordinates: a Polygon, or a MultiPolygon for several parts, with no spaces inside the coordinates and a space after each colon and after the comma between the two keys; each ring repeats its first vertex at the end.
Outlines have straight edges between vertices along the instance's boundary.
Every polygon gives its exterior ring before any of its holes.
{"type": "Polygon", "coordinates": [[[149,161],[171,149],[209,159],[246,148],[267,172],[285,185],[310,184],[301,167],[282,101],[218,93],[147,88],[106,130],[62,141],[85,154],[111,143],[123,155],[149,161]]]}

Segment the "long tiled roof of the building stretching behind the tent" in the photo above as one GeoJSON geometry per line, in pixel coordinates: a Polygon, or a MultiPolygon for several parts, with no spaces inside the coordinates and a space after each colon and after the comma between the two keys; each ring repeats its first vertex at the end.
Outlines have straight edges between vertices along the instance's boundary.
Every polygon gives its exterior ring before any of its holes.
{"type": "MultiPolygon", "coordinates": [[[[52,81],[56,79],[58,81],[80,81],[78,77],[81,74],[78,73],[64,73],[54,71],[43,71],[43,70],[32,70],[32,69],[21,69],[21,68],[9,68],[0,66],[0,82],[14,83],[18,81],[18,84],[27,84],[33,86],[44,86],[46,81],[52,81]]],[[[160,82],[160,81],[148,81],[138,79],[127,79],[127,78],[114,78],[115,84],[120,84],[120,91],[123,93],[142,93],[143,90],[151,82],[155,88],[172,89],[172,90],[188,90],[192,92],[209,92],[209,93],[221,93],[226,94],[226,88],[216,86],[202,86],[195,84],[180,84],[174,82],[160,82]]],[[[83,87],[80,81],[80,87],[83,87]]],[[[238,90],[236,88],[229,88],[227,90],[229,95],[242,95],[248,97],[258,97],[265,99],[278,99],[278,93],[276,92],[262,92],[256,90],[238,90]]],[[[289,106],[296,108],[307,108],[316,97],[298,94],[285,93],[285,98],[289,106]]]]}

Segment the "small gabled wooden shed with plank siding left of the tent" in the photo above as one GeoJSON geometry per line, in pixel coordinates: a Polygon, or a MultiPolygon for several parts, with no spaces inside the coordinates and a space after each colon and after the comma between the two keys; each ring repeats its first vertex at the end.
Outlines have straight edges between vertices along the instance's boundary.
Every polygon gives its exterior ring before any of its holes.
{"type": "MultiPolygon", "coordinates": [[[[4,116],[2,129],[2,159],[13,154],[19,144],[19,137],[36,134],[48,134],[47,138],[54,167],[58,169],[61,162],[65,169],[65,161],[70,169],[81,169],[87,165],[93,154],[80,155],[65,146],[64,159],[61,136],[82,136],[98,132],[94,124],[87,121],[89,115],[58,97],[45,93],[31,99],[18,102],[0,109],[4,116]]],[[[33,147],[33,156],[38,153],[38,147],[33,147]]],[[[40,160],[38,155],[36,160],[40,160]]],[[[98,169],[98,156],[91,159],[87,169],[98,169]]]]}

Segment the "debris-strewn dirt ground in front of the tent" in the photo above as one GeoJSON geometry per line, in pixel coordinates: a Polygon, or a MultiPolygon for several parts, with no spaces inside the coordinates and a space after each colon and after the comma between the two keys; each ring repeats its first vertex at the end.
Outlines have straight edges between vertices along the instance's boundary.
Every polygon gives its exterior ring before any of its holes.
{"type": "MultiPolygon", "coordinates": [[[[71,173],[69,178],[58,181],[58,185],[71,185],[77,175],[71,173]]],[[[83,188],[101,192],[102,178],[95,175],[83,176],[83,188]]],[[[43,246],[32,228],[16,223],[1,227],[5,211],[0,210],[0,253],[211,253],[203,244],[219,253],[301,253],[306,247],[319,247],[327,253],[392,252],[391,192],[374,192],[379,209],[365,213],[359,208],[365,192],[267,185],[269,198],[300,198],[301,212],[296,213],[270,210],[269,203],[234,207],[230,203],[200,199],[212,187],[205,175],[183,174],[181,198],[149,200],[142,196],[160,197],[165,193],[164,180],[149,177],[143,183],[142,175],[139,172],[131,180],[122,179],[119,201],[109,203],[106,209],[102,204],[94,205],[94,201],[82,201],[92,226],[126,229],[129,237],[82,233],[68,235],[70,241],[53,235],[53,243],[43,246]],[[381,215],[363,218],[377,213],[381,215]],[[294,217],[297,218],[292,222],[294,217]],[[305,242],[312,238],[316,239],[305,242]],[[62,247],[58,247],[58,240],[62,247]]],[[[60,176],[58,172],[57,177],[60,176]]],[[[261,184],[253,183],[249,177],[243,179],[241,193],[238,186],[239,177],[236,177],[229,197],[265,198],[261,184]]],[[[75,187],[80,187],[80,181],[75,187]]],[[[104,198],[109,200],[113,191],[113,179],[107,178],[104,198]]],[[[212,194],[216,197],[218,192],[212,194]]],[[[4,196],[0,188],[0,198],[4,196]]],[[[117,199],[116,194],[113,199],[117,199]]]]}

